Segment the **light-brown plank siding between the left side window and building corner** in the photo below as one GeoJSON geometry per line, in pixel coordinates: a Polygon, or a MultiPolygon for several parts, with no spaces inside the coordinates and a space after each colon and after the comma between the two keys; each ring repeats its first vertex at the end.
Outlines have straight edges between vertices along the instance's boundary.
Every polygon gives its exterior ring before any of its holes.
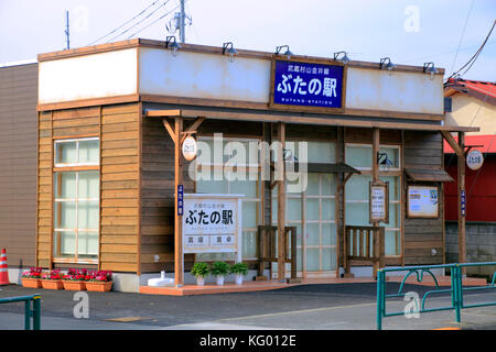
{"type": "Polygon", "coordinates": [[[138,272],[139,105],[101,107],[100,270],[138,272]]]}

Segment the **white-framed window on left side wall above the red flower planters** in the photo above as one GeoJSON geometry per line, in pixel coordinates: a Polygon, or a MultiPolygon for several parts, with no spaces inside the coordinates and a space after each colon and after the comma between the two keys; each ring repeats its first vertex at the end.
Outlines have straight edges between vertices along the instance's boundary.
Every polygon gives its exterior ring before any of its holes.
{"type": "Polygon", "coordinates": [[[55,142],[55,262],[95,263],[98,258],[98,139],[55,142]]]}

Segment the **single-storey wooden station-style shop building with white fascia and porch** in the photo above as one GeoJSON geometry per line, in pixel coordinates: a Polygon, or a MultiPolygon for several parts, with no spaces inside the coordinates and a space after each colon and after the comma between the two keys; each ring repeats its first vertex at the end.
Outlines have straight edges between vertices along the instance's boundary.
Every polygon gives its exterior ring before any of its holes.
{"type": "MultiPolygon", "coordinates": [[[[442,69],[429,75],[417,66],[388,70],[379,63],[241,50],[233,61],[225,47],[168,46],[139,38],[39,55],[37,265],[138,277],[165,270],[182,285],[183,264],[187,272],[195,261],[230,258],[183,258],[174,210],[180,184],[185,193],[246,195],[244,261],[257,268],[260,226],[279,229],[279,279],[287,275],[284,227],[296,228],[299,276],[370,270],[378,263],[366,253],[378,257],[376,250],[370,254],[358,238],[346,239],[356,230],[371,241],[374,227],[382,228],[381,265],[443,263],[442,183],[451,180],[443,170],[443,138],[453,143],[449,132],[477,129],[444,123],[442,69]],[[276,103],[278,59],[313,65],[315,73],[341,67],[342,105],[276,103]],[[180,153],[185,133],[204,145],[219,133],[225,143],[241,145],[278,141],[274,154],[291,143],[298,154],[306,142],[308,187],[285,191],[289,182],[261,178],[260,163],[251,161],[237,167],[254,179],[195,180],[196,162],[180,153]],[[370,182],[389,185],[386,222],[370,222],[370,182]],[[414,185],[436,190],[435,216],[408,212],[408,187],[414,185]]],[[[283,165],[282,158],[271,163],[283,165]]],[[[215,173],[223,163],[206,166],[215,173]]]]}

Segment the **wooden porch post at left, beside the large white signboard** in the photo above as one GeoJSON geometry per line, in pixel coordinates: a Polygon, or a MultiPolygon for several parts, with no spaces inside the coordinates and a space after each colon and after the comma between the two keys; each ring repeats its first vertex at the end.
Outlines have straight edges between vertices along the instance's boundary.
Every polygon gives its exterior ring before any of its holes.
{"type": "Polygon", "coordinates": [[[184,285],[183,217],[177,215],[177,186],[183,185],[182,132],[183,118],[176,117],[174,128],[174,284],[176,287],[184,285]]]}

